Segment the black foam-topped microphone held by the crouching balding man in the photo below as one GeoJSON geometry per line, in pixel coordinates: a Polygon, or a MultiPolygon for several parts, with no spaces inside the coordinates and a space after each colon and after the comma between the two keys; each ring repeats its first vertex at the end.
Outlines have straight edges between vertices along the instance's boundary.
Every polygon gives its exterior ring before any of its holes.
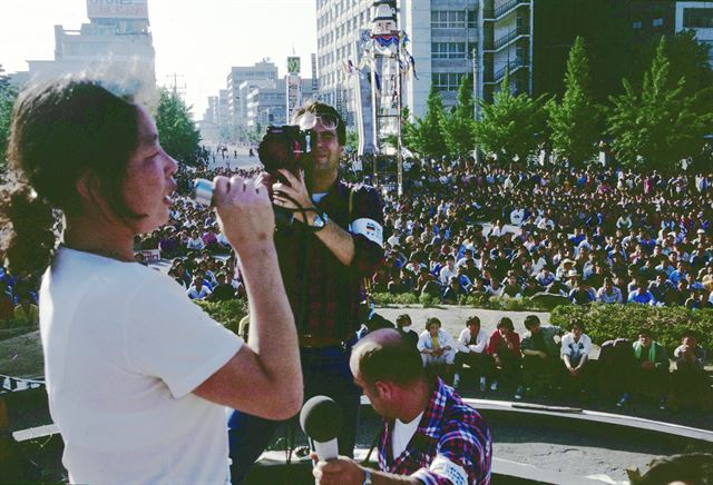
{"type": "Polygon", "coordinates": [[[304,403],[300,412],[300,426],[320,459],[328,461],[339,456],[336,435],[342,428],[342,409],[334,399],[314,396],[304,403]]]}

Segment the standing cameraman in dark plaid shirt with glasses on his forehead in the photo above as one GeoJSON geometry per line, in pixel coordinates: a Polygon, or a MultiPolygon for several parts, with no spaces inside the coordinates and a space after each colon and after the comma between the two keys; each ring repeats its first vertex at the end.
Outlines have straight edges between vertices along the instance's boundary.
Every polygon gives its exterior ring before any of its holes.
{"type": "MultiPolygon", "coordinates": [[[[353,384],[349,358],[359,329],[362,280],[383,260],[382,201],[374,188],[339,179],[346,127],[334,108],[311,101],[295,112],[293,125],[311,130],[314,148],[296,174],[280,169],[284,180],[272,185],[273,204],[295,210],[294,222],[275,231],[275,246],[297,326],[304,398],[325,395],[340,405],[344,426],[339,453],[352,456],[361,393],[353,384]]],[[[263,182],[273,181],[275,177],[263,176],[263,182]]],[[[231,417],[237,483],[279,424],[238,412],[231,417]]]]}

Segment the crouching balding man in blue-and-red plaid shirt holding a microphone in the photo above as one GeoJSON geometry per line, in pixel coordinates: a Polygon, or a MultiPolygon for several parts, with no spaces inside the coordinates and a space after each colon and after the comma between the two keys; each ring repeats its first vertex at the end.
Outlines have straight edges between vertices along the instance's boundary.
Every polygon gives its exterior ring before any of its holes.
{"type": "Polygon", "coordinates": [[[380,472],[340,457],[316,464],[318,483],[490,483],[490,428],[451,387],[426,376],[418,350],[397,330],[364,337],[354,346],[350,366],[354,383],[384,418],[380,472]]]}

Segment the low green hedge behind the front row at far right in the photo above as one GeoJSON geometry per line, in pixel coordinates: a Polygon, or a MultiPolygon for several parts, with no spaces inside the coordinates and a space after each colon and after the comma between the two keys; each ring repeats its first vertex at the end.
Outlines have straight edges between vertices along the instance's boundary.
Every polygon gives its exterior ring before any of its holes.
{"type": "Polygon", "coordinates": [[[639,328],[647,328],[654,340],[671,353],[681,344],[684,330],[694,330],[703,347],[713,348],[713,309],[690,310],[685,307],[649,307],[646,305],[567,305],[556,307],[549,321],[569,328],[580,319],[587,335],[602,345],[613,338],[637,338],[639,328]]]}

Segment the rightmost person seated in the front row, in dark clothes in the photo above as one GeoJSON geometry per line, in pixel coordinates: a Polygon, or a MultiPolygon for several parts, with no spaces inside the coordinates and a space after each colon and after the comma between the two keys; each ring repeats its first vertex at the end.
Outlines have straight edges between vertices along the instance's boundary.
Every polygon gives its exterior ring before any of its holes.
{"type": "Polygon", "coordinates": [[[711,387],[704,369],[706,352],[699,345],[694,331],[683,334],[673,357],[676,369],[671,376],[671,407],[710,407],[711,387]]]}

